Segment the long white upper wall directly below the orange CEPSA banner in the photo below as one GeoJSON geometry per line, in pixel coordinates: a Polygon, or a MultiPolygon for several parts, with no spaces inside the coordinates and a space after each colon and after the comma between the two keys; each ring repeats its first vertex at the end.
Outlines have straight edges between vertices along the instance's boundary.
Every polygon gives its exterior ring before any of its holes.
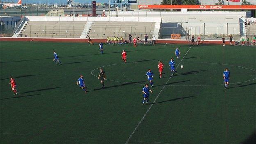
{"type": "Polygon", "coordinates": [[[162,22],[189,22],[189,23],[238,23],[238,18],[249,17],[251,12],[233,11],[120,11],[118,14],[111,11],[115,17],[162,17],[162,22]]]}

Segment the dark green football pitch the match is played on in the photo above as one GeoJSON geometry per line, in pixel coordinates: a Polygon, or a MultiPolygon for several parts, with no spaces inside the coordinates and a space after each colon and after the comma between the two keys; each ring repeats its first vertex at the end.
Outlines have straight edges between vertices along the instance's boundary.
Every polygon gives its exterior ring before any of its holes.
{"type": "Polygon", "coordinates": [[[1,41],[0,143],[249,142],[256,130],[255,55],[254,46],[104,44],[101,54],[98,44],[1,41]],[[53,62],[53,50],[62,65],[53,62]],[[171,57],[178,72],[172,76],[171,57]],[[225,68],[231,73],[227,90],[225,68]],[[149,105],[142,105],[148,69],[154,87],[149,105]],[[80,75],[87,93],[76,85],[80,75]]]}

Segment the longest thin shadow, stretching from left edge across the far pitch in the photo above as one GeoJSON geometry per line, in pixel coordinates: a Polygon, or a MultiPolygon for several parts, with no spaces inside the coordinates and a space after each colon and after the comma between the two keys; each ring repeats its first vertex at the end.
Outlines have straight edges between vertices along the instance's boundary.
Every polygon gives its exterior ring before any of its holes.
{"type": "MultiPolygon", "coordinates": [[[[148,51],[148,50],[158,50],[158,49],[167,49],[167,48],[151,48],[151,49],[146,49],[146,50],[128,50],[126,52],[136,52],[136,51],[148,51]]],[[[111,54],[111,53],[122,53],[122,51],[118,51],[118,52],[110,52],[110,53],[104,53],[103,55],[106,54],[111,54]]],[[[98,54],[89,54],[89,55],[74,55],[74,56],[66,56],[66,57],[83,57],[83,56],[90,56],[90,55],[102,55],[101,53],[98,54]]],[[[66,58],[66,57],[59,57],[60,60],[62,60],[62,58],[66,58]]],[[[44,60],[44,59],[53,59],[52,57],[49,58],[42,58],[42,59],[27,59],[27,60],[17,60],[17,61],[8,61],[8,62],[0,62],[0,63],[10,63],[10,62],[27,62],[27,61],[36,61],[36,60],[44,60]]]]}

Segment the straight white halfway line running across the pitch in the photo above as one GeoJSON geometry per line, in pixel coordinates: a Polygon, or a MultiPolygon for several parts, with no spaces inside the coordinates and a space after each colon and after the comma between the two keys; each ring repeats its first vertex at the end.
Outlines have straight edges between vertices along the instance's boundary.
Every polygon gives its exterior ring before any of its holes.
{"type": "MultiPolygon", "coordinates": [[[[190,46],[191,48],[192,46],[190,46]]],[[[181,59],[181,61],[178,63],[178,66],[181,64],[181,62],[183,61],[184,57],[187,55],[187,53],[189,52],[190,48],[187,50],[187,52],[185,53],[185,55],[183,56],[183,58],[181,59]]],[[[177,66],[177,68],[178,68],[177,66]]],[[[176,68],[176,69],[177,69],[176,68]]],[[[175,70],[176,70],[175,69],[175,70]]],[[[173,74],[171,74],[172,76],[173,74]]],[[[143,119],[146,117],[146,115],[148,114],[149,110],[151,109],[151,107],[154,105],[155,101],[158,99],[158,96],[162,93],[162,91],[165,89],[165,86],[167,85],[167,83],[169,82],[170,78],[167,80],[167,82],[165,82],[165,85],[162,87],[161,91],[158,93],[158,95],[156,96],[155,100],[153,101],[152,105],[150,105],[149,109],[146,111],[146,113],[144,114],[144,116],[142,117],[142,119],[139,121],[139,123],[137,124],[137,126],[135,127],[135,129],[133,130],[133,133],[130,134],[130,137],[127,139],[126,144],[130,141],[131,137],[133,136],[133,134],[135,133],[135,131],[137,130],[137,128],[139,127],[139,125],[142,123],[143,119]]]]}

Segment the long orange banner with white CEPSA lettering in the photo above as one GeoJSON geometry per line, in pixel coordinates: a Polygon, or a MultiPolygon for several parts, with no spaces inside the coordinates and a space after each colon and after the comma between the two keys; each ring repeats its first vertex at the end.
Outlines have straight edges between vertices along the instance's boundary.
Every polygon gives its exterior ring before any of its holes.
{"type": "Polygon", "coordinates": [[[256,9],[256,5],[139,5],[139,9],[256,9]]]}

